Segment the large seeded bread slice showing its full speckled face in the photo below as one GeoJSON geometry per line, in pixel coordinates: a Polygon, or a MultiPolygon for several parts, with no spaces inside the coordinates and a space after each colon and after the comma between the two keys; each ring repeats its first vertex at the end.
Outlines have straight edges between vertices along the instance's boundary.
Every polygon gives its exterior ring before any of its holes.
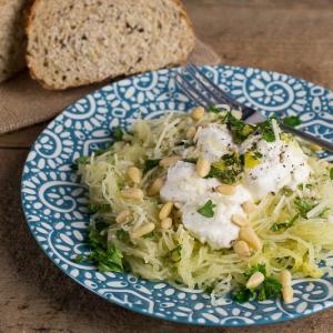
{"type": "Polygon", "coordinates": [[[179,0],[37,0],[27,34],[30,73],[54,90],[179,64],[194,47],[179,0]]]}

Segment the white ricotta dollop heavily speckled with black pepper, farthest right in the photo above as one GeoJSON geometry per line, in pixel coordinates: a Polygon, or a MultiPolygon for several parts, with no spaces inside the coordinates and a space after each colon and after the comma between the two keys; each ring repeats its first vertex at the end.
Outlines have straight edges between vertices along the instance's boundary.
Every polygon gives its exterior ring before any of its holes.
{"type": "Polygon", "coordinates": [[[285,185],[295,189],[297,184],[307,180],[311,168],[297,142],[268,142],[260,137],[253,137],[241,145],[241,152],[244,153],[253,144],[255,151],[262,154],[261,162],[245,170],[243,183],[255,200],[270,192],[278,192],[285,185]]]}

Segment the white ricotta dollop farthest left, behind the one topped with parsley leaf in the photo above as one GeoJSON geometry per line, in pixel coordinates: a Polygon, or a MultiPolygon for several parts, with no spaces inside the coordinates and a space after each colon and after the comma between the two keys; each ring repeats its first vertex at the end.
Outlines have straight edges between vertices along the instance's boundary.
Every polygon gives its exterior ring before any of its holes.
{"type": "Polygon", "coordinates": [[[195,164],[178,161],[168,170],[160,198],[163,201],[191,202],[212,192],[219,184],[220,182],[214,178],[200,178],[195,172],[195,164]]]}

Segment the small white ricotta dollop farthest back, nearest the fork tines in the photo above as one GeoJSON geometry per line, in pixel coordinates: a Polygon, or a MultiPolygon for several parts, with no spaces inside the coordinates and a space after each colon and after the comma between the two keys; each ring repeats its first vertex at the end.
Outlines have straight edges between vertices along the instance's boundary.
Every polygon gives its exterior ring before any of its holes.
{"type": "Polygon", "coordinates": [[[215,162],[231,150],[238,149],[225,124],[211,123],[199,128],[194,142],[201,158],[210,162],[215,162]]]}

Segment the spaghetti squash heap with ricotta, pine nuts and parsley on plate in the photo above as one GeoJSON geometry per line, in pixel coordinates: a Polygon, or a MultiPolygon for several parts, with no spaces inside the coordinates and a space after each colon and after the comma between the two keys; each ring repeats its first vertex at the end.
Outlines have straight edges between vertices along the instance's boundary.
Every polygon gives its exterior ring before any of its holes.
{"type": "Polygon", "coordinates": [[[238,302],[292,302],[292,278],[332,273],[333,168],[276,119],[198,107],[113,133],[78,160],[91,254],[77,260],[238,302]]]}

